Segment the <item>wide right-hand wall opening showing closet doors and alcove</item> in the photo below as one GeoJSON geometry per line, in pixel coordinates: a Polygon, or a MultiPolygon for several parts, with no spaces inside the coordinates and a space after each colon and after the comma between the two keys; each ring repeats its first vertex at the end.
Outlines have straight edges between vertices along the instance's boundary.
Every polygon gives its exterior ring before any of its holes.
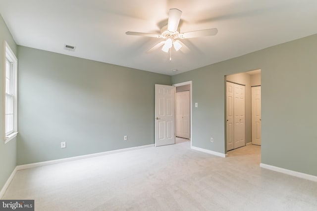
{"type": "Polygon", "coordinates": [[[226,152],[261,145],[261,70],[228,75],[225,82],[226,152]]]}

